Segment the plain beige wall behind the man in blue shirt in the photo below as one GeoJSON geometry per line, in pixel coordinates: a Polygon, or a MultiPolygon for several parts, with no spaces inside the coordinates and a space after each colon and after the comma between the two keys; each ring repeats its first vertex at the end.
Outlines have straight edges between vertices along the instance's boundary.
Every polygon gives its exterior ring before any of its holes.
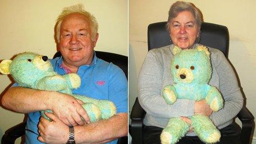
{"type": "MultiPolygon", "coordinates": [[[[127,0],[87,1],[0,1],[0,60],[9,59],[19,52],[31,51],[54,56],[55,19],[63,7],[83,3],[85,9],[97,18],[99,39],[95,50],[128,55],[128,2],[127,0]]],[[[0,92],[9,84],[9,78],[0,75],[0,92]]],[[[0,107],[0,138],[9,127],[23,121],[23,114],[0,107]]]]}

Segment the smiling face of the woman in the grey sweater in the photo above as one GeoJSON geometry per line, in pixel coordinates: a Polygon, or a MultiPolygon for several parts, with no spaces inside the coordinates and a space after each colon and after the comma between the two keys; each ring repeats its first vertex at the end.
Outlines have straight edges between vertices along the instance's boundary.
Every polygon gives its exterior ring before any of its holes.
{"type": "Polygon", "coordinates": [[[169,24],[170,38],[181,49],[188,49],[194,44],[199,30],[193,14],[189,11],[180,12],[169,24]]]}

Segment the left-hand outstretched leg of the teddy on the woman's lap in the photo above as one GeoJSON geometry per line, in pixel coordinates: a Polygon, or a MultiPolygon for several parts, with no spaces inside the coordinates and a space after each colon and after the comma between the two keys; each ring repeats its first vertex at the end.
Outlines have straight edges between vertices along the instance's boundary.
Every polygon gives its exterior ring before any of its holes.
{"type": "Polygon", "coordinates": [[[189,124],[180,118],[172,118],[160,136],[161,143],[177,143],[189,130],[189,124]]]}

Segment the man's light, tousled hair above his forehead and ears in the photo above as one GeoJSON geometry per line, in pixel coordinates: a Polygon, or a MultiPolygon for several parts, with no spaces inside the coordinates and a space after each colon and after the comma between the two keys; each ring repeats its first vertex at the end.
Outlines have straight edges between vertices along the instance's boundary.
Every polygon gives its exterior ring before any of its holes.
{"type": "Polygon", "coordinates": [[[74,6],[63,8],[61,14],[58,15],[58,17],[56,19],[56,25],[55,25],[55,40],[57,41],[57,43],[60,43],[60,29],[61,29],[62,20],[67,15],[72,14],[72,13],[83,14],[89,20],[89,25],[90,25],[90,30],[91,30],[90,32],[92,34],[92,41],[94,41],[95,37],[98,33],[98,22],[92,14],[90,14],[89,12],[84,10],[83,4],[77,4],[74,6]]]}

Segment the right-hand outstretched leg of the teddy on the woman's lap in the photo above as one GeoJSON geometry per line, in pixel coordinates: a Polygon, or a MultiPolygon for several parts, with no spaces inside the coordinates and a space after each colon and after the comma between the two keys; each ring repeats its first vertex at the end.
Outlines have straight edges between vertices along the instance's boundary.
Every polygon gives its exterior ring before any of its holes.
{"type": "Polygon", "coordinates": [[[201,141],[206,143],[220,141],[221,133],[208,116],[193,115],[191,121],[193,129],[201,141]]]}

